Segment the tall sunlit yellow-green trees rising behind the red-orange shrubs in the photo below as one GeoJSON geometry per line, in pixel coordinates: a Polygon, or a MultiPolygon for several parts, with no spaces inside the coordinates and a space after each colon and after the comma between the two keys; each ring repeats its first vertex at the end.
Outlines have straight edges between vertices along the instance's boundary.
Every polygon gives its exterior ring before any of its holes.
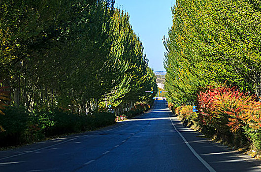
{"type": "Polygon", "coordinates": [[[192,104],[199,90],[225,82],[261,96],[259,0],[177,0],[172,12],[164,40],[171,102],[192,104]]]}

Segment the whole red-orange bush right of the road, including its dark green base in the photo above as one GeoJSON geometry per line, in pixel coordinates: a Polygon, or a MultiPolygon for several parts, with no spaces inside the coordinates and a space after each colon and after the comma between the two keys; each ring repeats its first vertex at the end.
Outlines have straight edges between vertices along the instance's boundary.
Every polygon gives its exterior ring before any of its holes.
{"type": "Polygon", "coordinates": [[[203,129],[218,138],[241,147],[250,140],[260,147],[261,103],[255,95],[236,87],[209,87],[199,92],[197,103],[203,129]]]}

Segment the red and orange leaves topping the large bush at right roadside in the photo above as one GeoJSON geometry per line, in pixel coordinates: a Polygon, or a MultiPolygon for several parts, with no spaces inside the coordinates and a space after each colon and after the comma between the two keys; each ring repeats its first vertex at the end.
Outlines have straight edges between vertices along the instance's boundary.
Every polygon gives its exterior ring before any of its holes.
{"type": "Polygon", "coordinates": [[[221,86],[199,92],[197,103],[202,124],[225,124],[232,132],[243,126],[261,129],[261,102],[236,87],[221,86]]]}

